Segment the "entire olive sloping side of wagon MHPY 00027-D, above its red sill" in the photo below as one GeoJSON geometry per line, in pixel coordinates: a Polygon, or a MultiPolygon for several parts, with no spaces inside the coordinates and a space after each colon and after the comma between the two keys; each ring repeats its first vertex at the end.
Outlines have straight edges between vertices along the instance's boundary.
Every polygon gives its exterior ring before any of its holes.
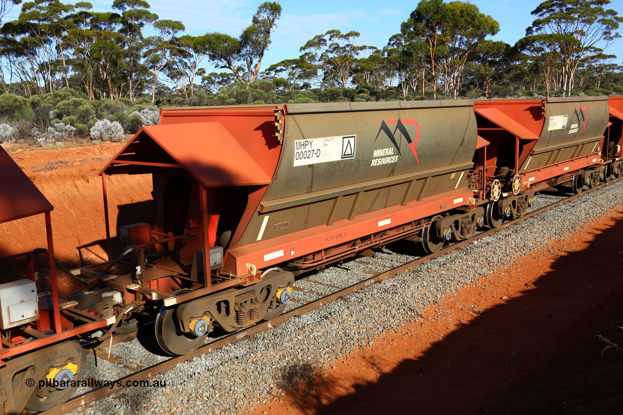
{"type": "Polygon", "coordinates": [[[272,239],[465,189],[477,143],[472,105],[287,105],[277,171],[241,243],[255,242],[262,226],[272,239]]]}

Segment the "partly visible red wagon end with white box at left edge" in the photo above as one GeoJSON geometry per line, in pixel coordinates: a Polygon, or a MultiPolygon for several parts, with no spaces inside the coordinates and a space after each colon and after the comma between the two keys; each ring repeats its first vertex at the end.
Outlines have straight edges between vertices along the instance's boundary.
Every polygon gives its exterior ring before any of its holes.
{"type": "Polygon", "coordinates": [[[45,223],[47,236],[47,249],[0,258],[24,260],[28,267],[26,279],[2,275],[5,282],[0,284],[0,413],[22,413],[24,408],[43,411],[63,403],[77,389],[59,382],[79,381],[85,374],[82,346],[72,340],[105,327],[107,321],[75,309],[75,302],[59,298],[52,204],[3,148],[0,177],[0,223],[37,216],[45,223]],[[34,267],[34,258],[45,254],[49,258],[50,292],[38,287],[34,267]]]}

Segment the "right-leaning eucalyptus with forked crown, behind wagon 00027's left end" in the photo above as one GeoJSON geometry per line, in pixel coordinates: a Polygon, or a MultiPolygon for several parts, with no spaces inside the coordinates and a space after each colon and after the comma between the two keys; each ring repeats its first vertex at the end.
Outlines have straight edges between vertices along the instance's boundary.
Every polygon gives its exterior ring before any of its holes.
{"type": "Polygon", "coordinates": [[[206,33],[209,60],[220,69],[231,70],[240,82],[246,82],[247,85],[254,82],[281,11],[278,2],[267,1],[260,4],[250,26],[239,37],[219,32],[206,33]]]}

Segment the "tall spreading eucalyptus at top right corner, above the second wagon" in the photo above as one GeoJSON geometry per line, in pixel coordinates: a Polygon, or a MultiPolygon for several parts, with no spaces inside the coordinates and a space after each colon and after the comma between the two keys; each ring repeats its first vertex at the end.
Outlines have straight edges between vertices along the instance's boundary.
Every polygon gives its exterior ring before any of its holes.
{"type": "Polygon", "coordinates": [[[548,52],[558,55],[563,95],[571,92],[579,65],[621,37],[616,30],[623,17],[604,9],[608,4],[610,0],[547,0],[532,11],[537,19],[526,29],[525,42],[547,42],[548,52]]]}

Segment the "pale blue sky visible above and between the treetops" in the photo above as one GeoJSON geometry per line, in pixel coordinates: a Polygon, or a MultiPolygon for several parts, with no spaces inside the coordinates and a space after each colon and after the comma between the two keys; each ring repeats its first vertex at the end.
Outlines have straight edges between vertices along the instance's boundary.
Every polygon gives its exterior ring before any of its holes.
{"type": "MultiPolygon", "coordinates": [[[[70,1],[67,1],[70,2],[70,1]]],[[[161,19],[179,20],[186,26],[186,34],[193,36],[206,32],[224,32],[239,36],[249,26],[251,16],[262,0],[148,0],[151,11],[161,19]]],[[[416,8],[419,0],[340,1],[340,0],[281,0],[283,11],[272,36],[262,69],[283,59],[300,55],[299,48],[316,34],[330,29],[342,32],[358,31],[359,45],[382,48],[393,34],[400,31],[401,22],[416,8]]],[[[541,0],[471,0],[480,12],[491,15],[500,22],[500,32],[494,40],[515,44],[525,36],[534,16],[530,14],[541,0]]],[[[93,9],[110,11],[112,0],[92,1],[93,9]]],[[[612,0],[609,8],[623,16],[623,0],[612,0]]],[[[20,6],[14,8],[5,21],[19,14],[20,6]]],[[[623,26],[619,29],[623,34],[623,26]]],[[[623,39],[607,49],[617,55],[614,63],[623,62],[623,39]]],[[[207,63],[207,60],[206,60],[207,63]]]]}

